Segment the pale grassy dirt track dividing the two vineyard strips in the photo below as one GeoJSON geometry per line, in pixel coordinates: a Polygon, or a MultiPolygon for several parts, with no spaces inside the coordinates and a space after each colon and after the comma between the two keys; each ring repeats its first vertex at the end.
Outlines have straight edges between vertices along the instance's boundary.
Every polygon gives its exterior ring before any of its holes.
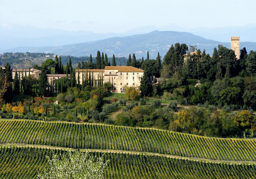
{"type": "MultiPolygon", "coordinates": [[[[45,146],[45,145],[30,145],[30,144],[0,144],[0,147],[37,147],[37,148],[46,148],[46,149],[56,149],[56,150],[71,150],[75,151],[77,149],[74,148],[67,148],[67,147],[54,147],[54,146],[45,146]]],[[[227,160],[210,160],[204,158],[196,158],[196,157],[181,157],[176,155],[168,155],[168,154],[158,154],[158,153],[151,153],[151,152],[136,152],[136,151],[125,151],[125,150],[104,150],[104,149],[79,149],[82,152],[89,151],[89,152],[103,152],[103,153],[123,153],[123,154],[136,154],[136,155],[148,155],[148,156],[161,156],[167,158],[175,158],[175,159],[182,159],[182,160],[192,160],[192,161],[203,161],[206,163],[227,163],[227,164],[245,164],[245,165],[253,165],[256,164],[254,161],[227,161],[227,160]]]]}

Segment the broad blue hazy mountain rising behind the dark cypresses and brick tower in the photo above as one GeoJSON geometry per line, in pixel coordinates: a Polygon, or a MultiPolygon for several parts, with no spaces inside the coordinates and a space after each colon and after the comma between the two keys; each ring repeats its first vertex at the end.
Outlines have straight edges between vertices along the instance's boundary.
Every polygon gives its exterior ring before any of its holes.
{"type": "MultiPolygon", "coordinates": [[[[134,33],[134,32],[130,32],[130,33],[134,33]]],[[[78,35],[77,40],[80,37],[79,33],[81,37],[88,36],[92,39],[93,39],[92,37],[93,34],[95,35],[95,33],[93,32],[88,32],[87,34],[84,32],[77,32],[77,35],[78,35]]],[[[117,34],[108,34],[108,35],[115,36],[117,34]]],[[[65,36],[65,34],[60,33],[60,37],[61,36],[65,36]]],[[[95,38],[96,36],[97,35],[95,35],[95,38]]],[[[97,38],[100,38],[100,36],[97,36],[97,38]]],[[[101,38],[104,38],[104,35],[102,35],[101,38]]],[[[230,39],[230,36],[228,36],[227,39],[230,39]]],[[[150,58],[155,59],[158,52],[163,58],[166,52],[168,51],[168,49],[170,48],[170,46],[172,44],[174,45],[177,42],[179,42],[180,44],[185,43],[188,46],[196,45],[198,49],[200,49],[201,51],[205,49],[206,54],[210,54],[210,55],[213,53],[213,48],[218,47],[218,44],[221,44],[227,48],[230,48],[230,42],[220,42],[220,41],[209,40],[188,32],[153,31],[145,34],[131,35],[131,36],[125,36],[125,37],[111,37],[107,39],[95,40],[95,41],[84,42],[84,43],[72,43],[69,45],[61,45],[61,46],[53,45],[51,47],[49,46],[38,47],[39,45],[35,44],[35,47],[16,47],[16,48],[7,49],[4,52],[50,52],[50,53],[59,54],[59,55],[62,54],[62,55],[72,55],[72,56],[89,56],[90,54],[92,54],[92,56],[96,56],[97,51],[100,50],[100,52],[107,53],[109,57],[111,57],[113,54],[119,57],[121,56],[128,57],[129,54],[135,53],[136,58],[139,59],[142,56],[146,58],[147,51],[149,51],[150,58]]],[[[54,43],[51,43],[50,40],[49,41],[45,40],[45,44],[54,44],[54,43]]],[[[243,47],[246,47],[246,50],[249,53],[250,50],[254,50],[254,51],[256,50],[256,43],[240,42],[240,49],[243,47]]]]}

